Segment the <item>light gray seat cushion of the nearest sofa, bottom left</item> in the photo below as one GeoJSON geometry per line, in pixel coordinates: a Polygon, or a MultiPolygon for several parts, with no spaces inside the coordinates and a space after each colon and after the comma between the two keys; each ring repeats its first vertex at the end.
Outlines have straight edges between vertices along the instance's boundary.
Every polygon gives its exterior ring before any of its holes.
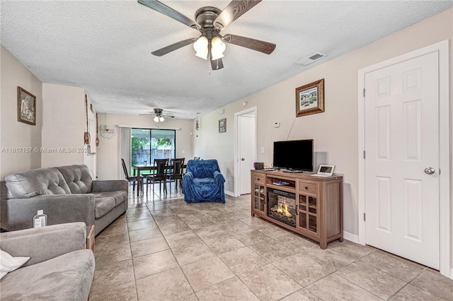
{"type": "Polygon", "coordinates": [[[1,279],[2,300],[87,300],[94,275],[88,249],[33,264],[1,279]]]}

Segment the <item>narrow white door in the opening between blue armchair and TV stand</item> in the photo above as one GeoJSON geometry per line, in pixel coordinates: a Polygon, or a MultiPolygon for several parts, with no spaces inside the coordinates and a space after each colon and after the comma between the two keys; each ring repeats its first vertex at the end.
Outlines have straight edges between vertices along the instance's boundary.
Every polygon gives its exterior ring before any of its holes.
{"type": "Polygon", "coordinates": [[[251,193],[250,170],[255,162],[255,112],[238,117],[238,160],[240,172],[240,194],[251,193]]]}

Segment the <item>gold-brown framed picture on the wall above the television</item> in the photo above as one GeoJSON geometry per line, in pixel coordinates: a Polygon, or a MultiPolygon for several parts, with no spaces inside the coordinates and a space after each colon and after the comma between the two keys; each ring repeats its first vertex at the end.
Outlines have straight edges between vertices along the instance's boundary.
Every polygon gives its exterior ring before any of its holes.
{"type": "Polygon", "coordinates": [[[324,112],[324,78],[296,88],[296,117],[324,112]]]}

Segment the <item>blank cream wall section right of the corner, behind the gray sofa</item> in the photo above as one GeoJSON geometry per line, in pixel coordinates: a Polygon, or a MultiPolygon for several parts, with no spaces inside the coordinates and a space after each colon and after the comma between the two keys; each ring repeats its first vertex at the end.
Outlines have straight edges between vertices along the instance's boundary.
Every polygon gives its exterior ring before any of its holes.
{"type": "Polygon", "coordinates": [[[84,88],[42,83],[42,107],[41,166],[84,164],[84,88]]]}

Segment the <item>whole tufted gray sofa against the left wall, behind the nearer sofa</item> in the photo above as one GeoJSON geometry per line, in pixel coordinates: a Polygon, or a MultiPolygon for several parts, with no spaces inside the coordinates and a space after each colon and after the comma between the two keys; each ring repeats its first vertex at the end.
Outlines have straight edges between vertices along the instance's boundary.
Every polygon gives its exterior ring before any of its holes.
{"type": "Polygon", "coordinates": [[[86,165],[17,172],[1,183],[0,227],[7,231],[33,228],[38,210],[47,225],[84,222],[95,235],[127,210],[128,182],[93,181],[86,165]]]}

